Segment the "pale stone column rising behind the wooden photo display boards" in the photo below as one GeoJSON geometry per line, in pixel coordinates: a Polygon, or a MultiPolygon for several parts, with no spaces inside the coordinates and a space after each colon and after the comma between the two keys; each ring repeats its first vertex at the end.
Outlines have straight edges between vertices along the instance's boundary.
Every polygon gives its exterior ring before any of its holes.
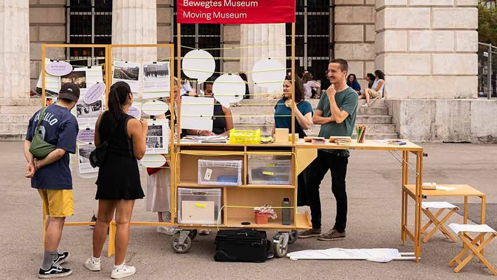
{"type": "MultiPolygon", "coordinates": [[[[157,1],[112,3],[112,44],[157,44],[157,1]]],[[[114,48],[112,56],[132,62],[157,60],[157,48],[114,48]]]]}

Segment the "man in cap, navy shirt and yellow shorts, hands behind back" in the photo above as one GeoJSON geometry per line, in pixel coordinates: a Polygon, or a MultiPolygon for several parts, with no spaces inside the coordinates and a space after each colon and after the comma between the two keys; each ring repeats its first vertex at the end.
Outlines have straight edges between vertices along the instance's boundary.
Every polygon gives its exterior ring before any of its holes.
{"type": "Polygon", "coordinates": [[[76,136],[79,127],[71,109],[80,98],[80,88],[73,83],[62,85],[59,101],[50,105],[41,115],[38,110],[29,120],[24,156],[27,160],[26,177],[31,178],[31,187],[37,188],[43,200],[47,219],[45,252],[39,278],[59,278],[73,273],[60,264],[69,257],[69,252],[57,251],[62,236],[62,228],[67,216],[74,214],[73,180],[69,169],[69,153],[76,153],[76,136]],[[36,129],[42,118],[40,129],[36,129]],[[40,133],[44,141],[55,145],[56,149],[43,159],[35,159],[29,152],[34,134],[40,133]]]}

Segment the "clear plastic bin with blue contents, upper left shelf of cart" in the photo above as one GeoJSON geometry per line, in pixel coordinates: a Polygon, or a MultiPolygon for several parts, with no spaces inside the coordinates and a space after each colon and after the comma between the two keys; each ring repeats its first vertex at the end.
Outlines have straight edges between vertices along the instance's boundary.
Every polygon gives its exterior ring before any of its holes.
{"type": "Polygon", "coordinates": [[[198,160],[198,185],[242,185],[242,160],[198,160]]]}

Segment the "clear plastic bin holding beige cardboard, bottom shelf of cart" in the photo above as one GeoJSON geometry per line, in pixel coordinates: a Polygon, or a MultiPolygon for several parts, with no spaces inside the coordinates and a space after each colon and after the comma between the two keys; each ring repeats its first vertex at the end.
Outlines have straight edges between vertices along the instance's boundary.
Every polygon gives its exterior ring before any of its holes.
{"type": "Polygon", "coordinates": [[[220,208],[220,188],[178,187],[178,223],[217,224],[220,208]]]}

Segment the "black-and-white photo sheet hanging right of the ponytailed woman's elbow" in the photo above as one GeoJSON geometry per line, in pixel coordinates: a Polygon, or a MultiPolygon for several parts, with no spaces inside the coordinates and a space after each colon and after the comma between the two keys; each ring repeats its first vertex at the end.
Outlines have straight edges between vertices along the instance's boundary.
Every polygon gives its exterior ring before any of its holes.
{"type": "Polygon", "coordinates": [[[146,143],[146,154],[167,154],[169,126],[165,119],[152,122],[149,121],[146,143]]]}

